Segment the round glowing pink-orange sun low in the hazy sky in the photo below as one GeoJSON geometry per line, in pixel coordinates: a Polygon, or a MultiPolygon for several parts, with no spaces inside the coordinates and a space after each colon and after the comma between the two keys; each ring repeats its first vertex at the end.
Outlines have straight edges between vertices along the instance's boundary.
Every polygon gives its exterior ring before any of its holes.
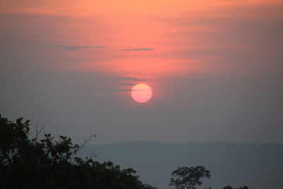
{"type": "Polygon", "coordinates": [[[152,90],[146,84],[137,84],[133,86],[131,96],[138,103],[146,103],[152,97],[152,90]]]}

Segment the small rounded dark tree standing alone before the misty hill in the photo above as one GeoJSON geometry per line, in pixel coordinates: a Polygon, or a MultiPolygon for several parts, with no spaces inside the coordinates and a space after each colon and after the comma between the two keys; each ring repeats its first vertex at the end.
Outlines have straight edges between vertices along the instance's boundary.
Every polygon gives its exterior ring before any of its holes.
{"type": "Polygon", "coordinates": [[[183,166],[172,172],[169,185],[175,185],[177,189],[195,189],[195,185],[202,185],[201,178],[210,178],[210,171],[203,166],[183,166]]]}

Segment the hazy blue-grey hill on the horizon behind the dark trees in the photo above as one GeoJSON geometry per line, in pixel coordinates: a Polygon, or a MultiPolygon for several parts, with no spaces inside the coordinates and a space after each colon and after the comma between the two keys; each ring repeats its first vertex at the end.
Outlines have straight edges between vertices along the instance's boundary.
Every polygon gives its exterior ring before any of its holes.
{"type": "Polygon", "coordinates": [[[282,188],[283,145],[230,142],[118,142],[88,144],[79,156],[91,152],[99,161],[110,160],[132,167],[146,183],[161,189],[169,187],[171,173],[178,166],[205,166],[212,178],[202,188],[225,185],[250,188],[282,188]]]}

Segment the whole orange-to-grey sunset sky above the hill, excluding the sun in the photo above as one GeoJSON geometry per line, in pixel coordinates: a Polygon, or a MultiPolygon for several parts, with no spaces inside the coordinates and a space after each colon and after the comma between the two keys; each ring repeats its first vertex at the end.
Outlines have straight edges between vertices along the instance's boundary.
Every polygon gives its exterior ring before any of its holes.
{"type": "Polygon", "coordinates": [[[2,0],[0,114],[92,143],[283,144],[282,0],[2,0]],[[135,84],[151,87],[146,103],[135,84]]]}

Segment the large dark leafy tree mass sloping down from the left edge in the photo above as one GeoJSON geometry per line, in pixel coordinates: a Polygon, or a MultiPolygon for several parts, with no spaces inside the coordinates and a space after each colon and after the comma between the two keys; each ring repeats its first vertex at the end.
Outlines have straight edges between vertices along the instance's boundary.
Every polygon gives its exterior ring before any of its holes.
{"type": "Polygon", "coordinates": [[[139,181],[132,168],[76,157],[69,137],[29,139],[29,121],[0,115],[0,188],[156,189],[139,181]]]}

